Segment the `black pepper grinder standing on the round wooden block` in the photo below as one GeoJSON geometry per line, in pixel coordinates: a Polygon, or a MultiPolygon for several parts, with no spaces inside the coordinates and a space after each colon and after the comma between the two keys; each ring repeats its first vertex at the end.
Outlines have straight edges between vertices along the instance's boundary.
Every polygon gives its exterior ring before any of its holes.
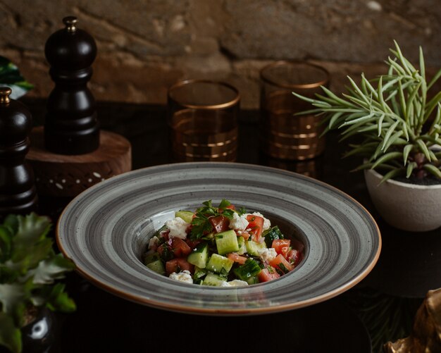
{"type": "Polygon", "coordinates": [[[44,146],[56,154],[85,154],[99,147],[94,97],[87,88],[97,44],[76,27],[75,17],[63,23],[66,28],[51,35],[44,48],[56,84],[47,101],[44,146]]]}

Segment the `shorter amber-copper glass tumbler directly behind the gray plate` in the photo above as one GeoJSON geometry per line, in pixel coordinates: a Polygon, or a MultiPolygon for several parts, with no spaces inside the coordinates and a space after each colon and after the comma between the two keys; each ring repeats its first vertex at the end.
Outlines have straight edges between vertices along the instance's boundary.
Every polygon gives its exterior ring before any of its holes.
{"type": "Polygon", "coordinates": [[[236,161],[240,94],[210,80],[168,89],[168,126],[175,161],[236,161]]]}

